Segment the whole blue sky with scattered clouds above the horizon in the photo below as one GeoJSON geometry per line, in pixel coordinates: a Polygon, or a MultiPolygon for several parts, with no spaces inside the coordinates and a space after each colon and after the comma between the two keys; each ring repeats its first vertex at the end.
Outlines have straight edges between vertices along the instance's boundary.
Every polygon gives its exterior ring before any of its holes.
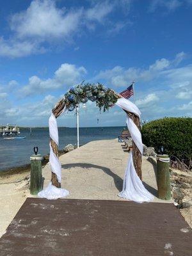
{"type": "MultiPolygon", "coordinates": [[[[52,107],[85,80],[121,92],[136,81],[142,119],[191,116],[191,0],[4,1],[0,123],[47,125],[52,107]]],[[[124,125],[118,107],[81,111],[81,126],[124,125]]],[[[75,126],[74,113],[59,125],[75,126]]]]}

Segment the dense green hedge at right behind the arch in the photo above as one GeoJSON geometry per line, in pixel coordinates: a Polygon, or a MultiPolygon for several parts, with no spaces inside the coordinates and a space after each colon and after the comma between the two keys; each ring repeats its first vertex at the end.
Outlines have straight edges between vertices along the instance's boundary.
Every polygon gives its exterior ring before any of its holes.
{"type": "Polygon", "coordinates": [[[154,120],[141,129],[143,144],[158,152],[161,145],[164,153],[179,158],[191,158],[192,118],[170,117],[154,120]]]}

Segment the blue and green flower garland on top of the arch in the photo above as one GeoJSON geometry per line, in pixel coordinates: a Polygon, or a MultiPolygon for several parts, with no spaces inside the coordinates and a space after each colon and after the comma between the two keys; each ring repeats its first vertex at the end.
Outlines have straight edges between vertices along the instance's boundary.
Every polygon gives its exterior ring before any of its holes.
{"type": "Polygon", "coordinates": [[[64,95],[64,103],[69,111],[73,111],[77,104],[86,103],[88,100],[95,101],[96,106],[105,112],[118,100],[118,95],[103,84],[79,84],[71,87],[64,95]]]}

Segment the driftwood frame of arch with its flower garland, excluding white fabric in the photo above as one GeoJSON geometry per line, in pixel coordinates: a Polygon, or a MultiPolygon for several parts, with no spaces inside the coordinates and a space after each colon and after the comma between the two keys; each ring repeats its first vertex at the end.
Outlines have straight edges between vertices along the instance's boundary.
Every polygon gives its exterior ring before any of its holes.
{"type": "MultiPolygon", "coordinates": [[[[95,101],[99,108],[109,109],[109,107],[114,106],[115,102],[122,98],[121,95],[116,93],[115,91],[104,87],[102,84],[80,84],[75,88],[70,88],[70,90],[65,94],[63,99],[61,99],[56,106],[52,109],[52,113],[55,118],[58,118],[61,113],[63,113],[63,109],[67,108],[72,111],[75,106],[79,103],[85,103],[88,100],[95,101]],[[88,95],[89,94],[89,95],[88,95]],[[88,96],[86,96],[88,95],[88,96]],[[102,96],[102,97],[101,97],[102,96]]],[[[124,110],[127,115],[133,120],[134,124],[140,129],[140,117],[135,115],[134,113],[128,112],[124,110]]],[[[58,156],[58,145],[52,138],[50,138],[52,151],[58,156]]],[[[132,141],[132,156],[134,168],[136,169],[136,173],[142,180],[142,172],[141,172],[141,152],[132,141]]],[[[61,188],[61,183],[58,182],[56,173],[52,172],[51,175],[52,185],[56,186],[56,188],[61,188]]]]}

